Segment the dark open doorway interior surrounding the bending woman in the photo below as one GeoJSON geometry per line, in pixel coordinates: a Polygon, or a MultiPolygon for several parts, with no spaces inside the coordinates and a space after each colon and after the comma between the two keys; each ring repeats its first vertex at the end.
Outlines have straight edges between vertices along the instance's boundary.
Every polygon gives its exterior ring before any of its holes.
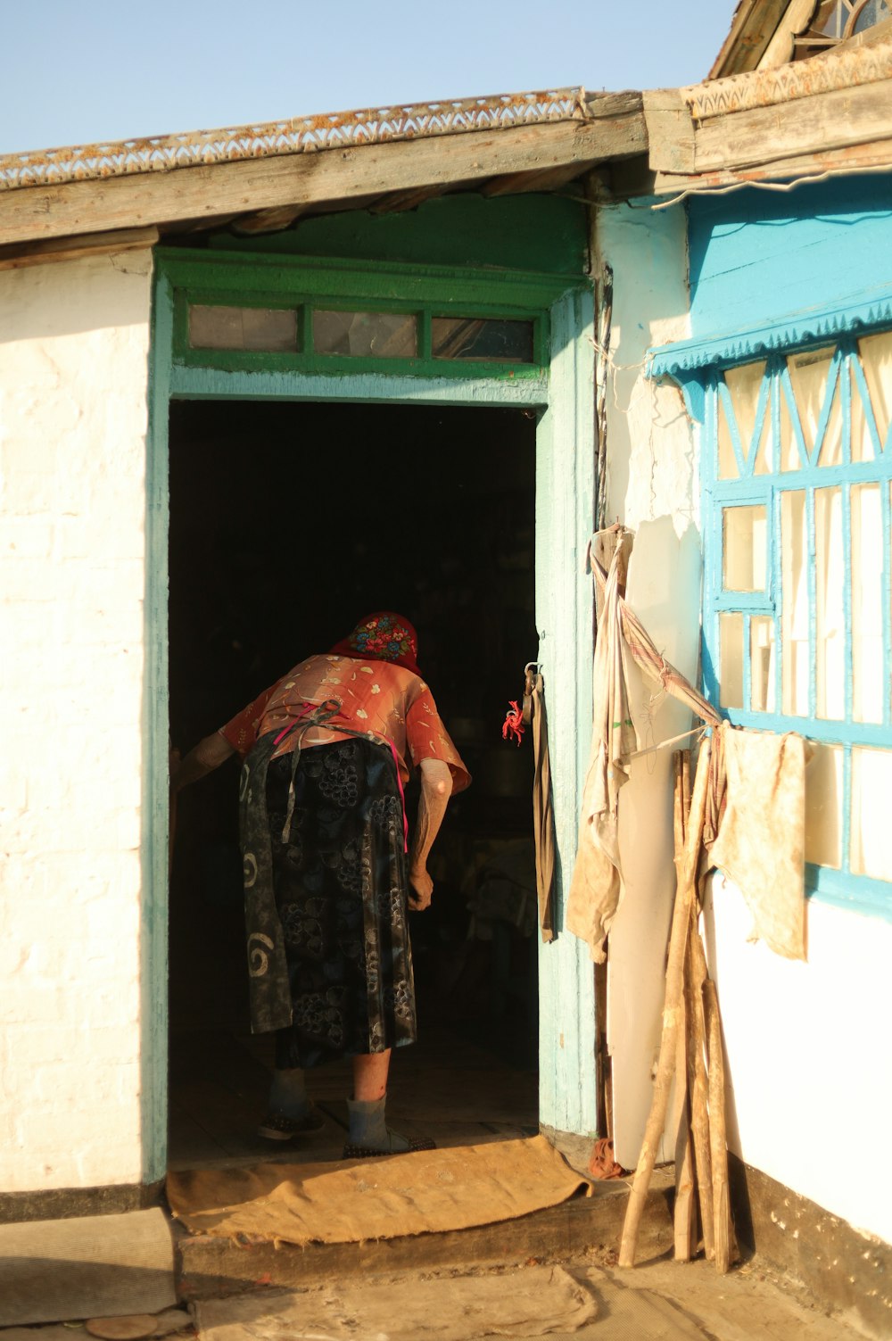
{"type": "MultiPolygon", "coordinates": [[[[528,739],[516,748],[500,734],[538,648],[535,429],[528,409],[170,404],[174,744],[189,748],[388,607],[416,624],[473,775],[433,849],[433,907],[412,915],[420,1041],[392,1067],[389,1120],[440,1144],[537,1129],[533,758],[528,739]]],[[[172,1167],[283,1155],[255,1136],[272,1049],[248,1030],[236,780],[231,760],[178,807],[172,1167]]],[[[288,1157],[337,1157],[349,1065],[309,1082],[326,1132],[288,1157]]]]}

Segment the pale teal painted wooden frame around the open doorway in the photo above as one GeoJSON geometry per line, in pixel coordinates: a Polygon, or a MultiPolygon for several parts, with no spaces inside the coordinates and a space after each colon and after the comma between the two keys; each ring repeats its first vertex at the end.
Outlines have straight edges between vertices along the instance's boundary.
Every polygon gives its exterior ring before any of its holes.
{"type": "MultiPolygon", "coordinates": [[[[567,280],[562,280],[567,284],[567,280]]],[[[558,843],[558,935],[539,951],[539,1120],[594,1134],[594,976],[586,945],[563,931],[578,803],[592,730],[590,585],[594,526],[594,300],[571,283],[549,307],[547,370],[523,380],[380,373],[227,371],[174,363],[174,291],[164,268],[153,308],[146,459],[146,670],[142,821],[144,1183],[166,1172],[168,1126],[168,418],[170,398],[364,401],[538,410],[535,601],[546,676],[558,843]]],[[[537,654],[531,649],[530,656],[537,654]]]]}

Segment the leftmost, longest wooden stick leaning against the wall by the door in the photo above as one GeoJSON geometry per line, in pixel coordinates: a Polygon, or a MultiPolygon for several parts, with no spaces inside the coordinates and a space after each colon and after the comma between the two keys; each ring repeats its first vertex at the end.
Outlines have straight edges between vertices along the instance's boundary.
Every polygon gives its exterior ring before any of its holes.
{"type": "Polygon", "coordinates": [[[684,860],[679,872],[679,882],[675,896],[675,909],[672,912],[672,932],[669,935],[669,957],[665,972],[665,1004],[663,1007],[663,1037],[660,1039],[660,1057],[657,1061],[657,1074],[653,1085],[653,1100],[644,1130],[644,1141],[638,1156],[638,1167],[634,1172],[629,1204],[622,1226],[622,1239],[620,1242],[620,1266],[634,1266],[634,1250],[638,1238],[638,1227],[644,1214],[644,1204],[651,1184],[651,1175],[656,1163],[656,1152],[660,1137],[665,1126],[665,1114],[669,1105],[669,1088],[675,1070],[675,1050],[679,1033],[679,1015],[684,971],[684,949],[688,941],[688,927],[691,921],[691,904],[693,900],[693,884],[698,862],[700,857],[700,843],[703,841],[703,818],[706,813],[707,775],[710,768],[710,742],[703,742],[698,771],[693,782],[693,797],[691,798],[691,815],[684,842],[684,860]]]}

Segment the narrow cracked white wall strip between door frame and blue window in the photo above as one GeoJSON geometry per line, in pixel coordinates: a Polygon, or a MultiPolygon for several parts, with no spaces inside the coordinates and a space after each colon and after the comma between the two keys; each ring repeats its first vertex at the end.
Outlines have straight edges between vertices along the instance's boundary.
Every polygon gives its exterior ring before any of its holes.
{"type": "MultiPolygon", "coordinates": [[[[597,256],[613,271],[606,361],[606,507],[636,531],[626,597],[659,650],[695,679],[700,638],[700,536],[693,430],[675,386],[645,375],[655,345],[689,335],[687,224],[675,207],[598,212],[597,256]]],[[[633,670],[643,746],[691,725],[691,713],[633,670]]],[[[637,759],[620,795],[622,901],[610,929],[608,1047],[616,1157],[634,1167],[660,1045],[665,941],[675,894],[671,750],[637,759]]],[[[671,1129],[672,1120],[668,1128],[671,1129]]],[[[673,1157],[669,1136],[659,1157],[673,1157]]]]}

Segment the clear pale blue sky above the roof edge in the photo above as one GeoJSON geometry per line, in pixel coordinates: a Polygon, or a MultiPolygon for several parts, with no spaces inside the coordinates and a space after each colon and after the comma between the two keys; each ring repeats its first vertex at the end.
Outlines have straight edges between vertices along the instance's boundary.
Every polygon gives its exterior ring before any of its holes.
{"type": "Polygon", "coordinates": [[[706,78],[735,0],[0,0],[0,154],[706,78]]]}

